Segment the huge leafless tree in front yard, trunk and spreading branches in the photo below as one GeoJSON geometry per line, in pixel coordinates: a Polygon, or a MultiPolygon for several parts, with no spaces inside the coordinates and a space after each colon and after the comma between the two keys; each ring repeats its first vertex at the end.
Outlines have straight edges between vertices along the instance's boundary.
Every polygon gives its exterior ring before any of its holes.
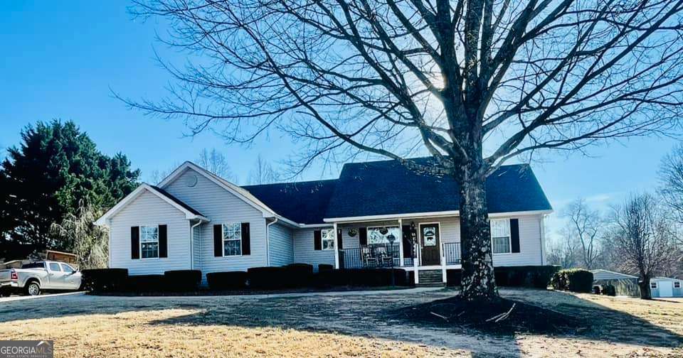
{"type": "Polygon", "coordinates": [[[455,178],[467,299],[497,298],[487,175],[682,117],[683,0],[137,3],[189,64],[164,63],[169,97],[131,107],[237,143],[282,129],[302,170],[369,153],[455,178]]]}

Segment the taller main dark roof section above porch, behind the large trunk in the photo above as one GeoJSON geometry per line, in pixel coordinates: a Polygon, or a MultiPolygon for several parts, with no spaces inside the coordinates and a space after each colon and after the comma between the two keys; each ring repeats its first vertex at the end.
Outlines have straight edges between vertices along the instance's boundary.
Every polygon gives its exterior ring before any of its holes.
{"type": "MultiPolygon", "coordinates": [[[[432,158],[414,158],[429,166],[432,158]]],[[[526,164],[501,166],[486,182],[489,212],[550,210],[526,164]]],[[[329,200],[326,218],[440,212],[460,209],[453,178],[415,173],[397,161],[348,163],[329,200]]]]}

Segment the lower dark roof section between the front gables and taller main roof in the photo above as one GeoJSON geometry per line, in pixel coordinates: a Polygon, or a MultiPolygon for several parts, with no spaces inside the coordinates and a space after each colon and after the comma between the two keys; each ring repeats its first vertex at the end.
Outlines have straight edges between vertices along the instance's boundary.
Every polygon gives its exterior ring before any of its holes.
{"type": "Polygon", "coordinates": [[[277,214],[299,224],[322,224],[337,180],[246,185],[245,190],[277,214]]]}

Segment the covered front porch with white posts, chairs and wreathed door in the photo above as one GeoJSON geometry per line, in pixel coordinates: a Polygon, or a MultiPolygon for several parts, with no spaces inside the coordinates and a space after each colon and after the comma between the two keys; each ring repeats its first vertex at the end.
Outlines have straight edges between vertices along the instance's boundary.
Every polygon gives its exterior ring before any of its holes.
{"type": "Polygon", "coordinates": [[[337,268],[403,268],[441,271],[445,283],[447,268],[460,268],[460,223],[448,217],[407,217],[334,223],[339,244],[335,248],[337,268]]]}

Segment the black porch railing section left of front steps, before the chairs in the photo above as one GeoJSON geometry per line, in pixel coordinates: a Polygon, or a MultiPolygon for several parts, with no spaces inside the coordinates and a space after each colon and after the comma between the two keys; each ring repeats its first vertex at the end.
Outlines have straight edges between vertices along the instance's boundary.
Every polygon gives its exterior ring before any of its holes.
{"type": "Polygon", "coordinates": [[[398,244],[369,244],[339,250],[339,268],[401,266],[398,244]]]}

